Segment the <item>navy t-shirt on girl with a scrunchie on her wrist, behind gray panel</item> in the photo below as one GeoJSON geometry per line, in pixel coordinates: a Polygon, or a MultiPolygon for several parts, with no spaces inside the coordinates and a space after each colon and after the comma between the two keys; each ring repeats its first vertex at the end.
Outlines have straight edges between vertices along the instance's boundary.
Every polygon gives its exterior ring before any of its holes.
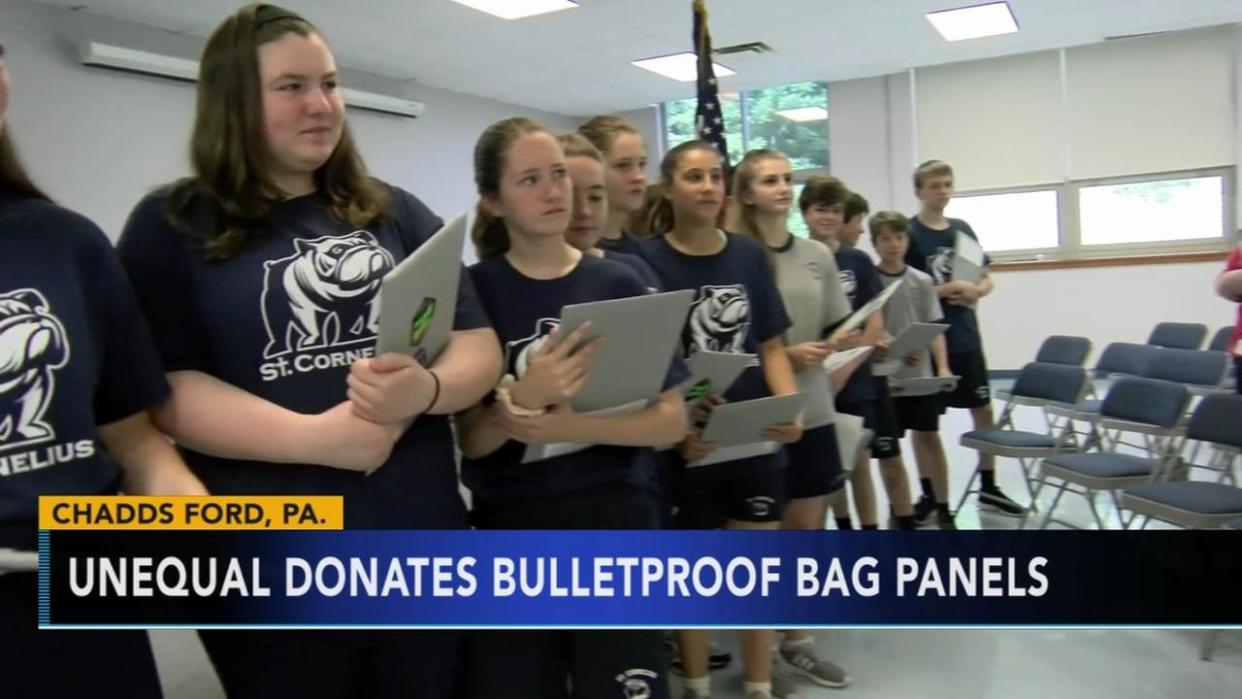
{"type": "MultiPolygon", "coordinates": [[[[471,266],[471,278],[483,308],[493,319],[504,349],[504,370],[520,379],[527,358],[560,324],[561,308],[576,303],[628,298],[647,293],[628,267],[582,255],[576,267],[558,279],[533,279],[503,255],[471,266]]],[[[679,361],[669,365],[664,389],[687,376],[679,361]]],[[[477,503],[503,498],[575,493],[606,483],[652,485],[652,462],[638,459],[635,447],[595,446],[581,452],[522,463],[525,444],[509,440],[478,459],[462,459],[462,479],[477,503]]]]}

